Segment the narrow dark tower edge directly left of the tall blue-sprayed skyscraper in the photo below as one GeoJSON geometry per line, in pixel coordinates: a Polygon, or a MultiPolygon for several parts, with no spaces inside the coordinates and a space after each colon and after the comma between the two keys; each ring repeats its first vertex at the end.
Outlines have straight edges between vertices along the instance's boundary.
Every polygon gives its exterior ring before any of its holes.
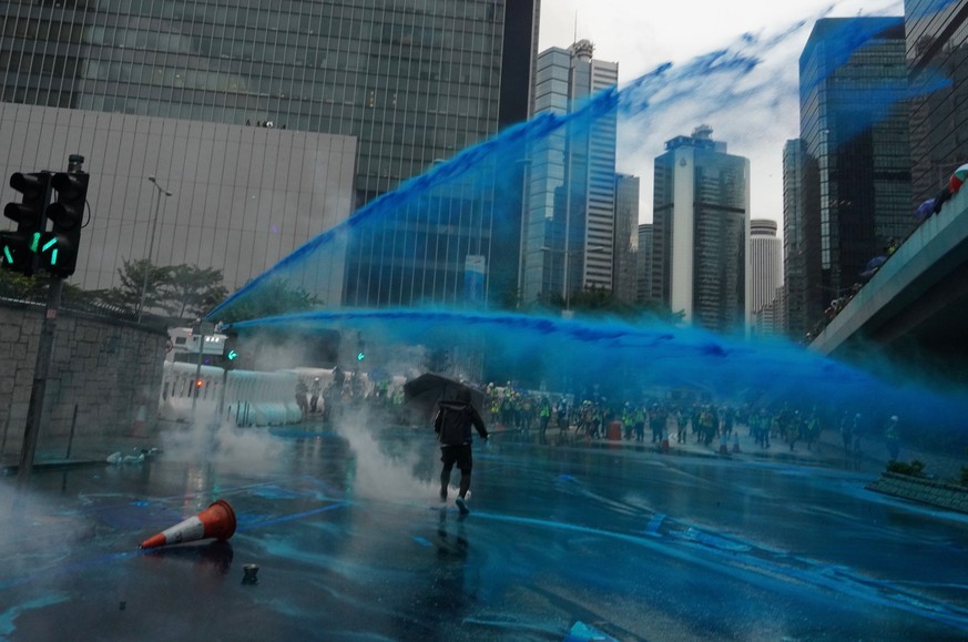
{"type": "MultiPolygon", "coordinates": [[[[807,225],[807,207],[804,195],[804,175],[807,167],[816,172],[816,162],[807,157],[803,141],[794,139],[783,146],[783,333],[793,338],[802,339],[809,329],[807,314],[807,283],[819,276],[817,265],[816,277],[808,277],[807,269],[807,230],[816,232],[811,243],[819,243],[819,226],[807,225]]],[[[809,208],[815,212],[816,206],[809,208]]],[[[815,216],[816,218],[816,216],[815,216]]]]}

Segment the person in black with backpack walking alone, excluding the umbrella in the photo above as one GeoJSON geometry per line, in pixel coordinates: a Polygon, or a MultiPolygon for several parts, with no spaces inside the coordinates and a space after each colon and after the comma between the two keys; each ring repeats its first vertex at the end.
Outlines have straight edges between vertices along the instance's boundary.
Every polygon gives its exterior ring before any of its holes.
{"type": "Polygon", "coordinates": [[[488,439],[488,430],[483,419],[471,404],[471,393],[466,386],[457,388],[452,400],[440,401],[437,416],[434,418],[434,430],[440,441],[440,500],[447,501],[447,487],[450,485],[450,472],[454,466],[460,470],[460,489],[457,493],[457,508],[461,514],[467,514],[467,492],[470,490],[470,471],[473,467],[471,442],[477,429],[482,439],[488,439]]]}

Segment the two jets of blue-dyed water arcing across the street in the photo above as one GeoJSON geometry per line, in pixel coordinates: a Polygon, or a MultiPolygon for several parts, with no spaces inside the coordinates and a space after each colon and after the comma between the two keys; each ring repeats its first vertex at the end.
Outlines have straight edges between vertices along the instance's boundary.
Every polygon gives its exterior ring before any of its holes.
{"type": "MultiPolygon", "coordinates": [[[[273,296],[272,284],[313,292],[313,284],[327,269],[327,256],[345,252],[355,235],[377,235],[388,223],[404,217],[434,227],[440,221],[434,203],[450,198],[454,193],[465,201],[495,202],[491,197],[495,185],[511,184],[512,167],[521,159],[529,157],[553,136],[587,135],[602,119],[620,118],[628,123],[626,131],[633,133],[656,129],[661,123],[662,131],[669,129],[666,135],[671,135],[676,131],[666,126],[669,119],[679,118],[681,111],[685,113],[682,121],[693,118],[689,109],[683,110],[690,103],[700,103],[706,115],[750,103],[767,112],[781,110],[784,104],[781,96],[795,96],[797,89],[788,79],[777,80],[774,74],[764,73],[764,65],[770,55],[788,48],[811,26],[812,21],[798,21],[773,37],[745,33],[732,45],[685,64],[659,65],[621,89],[592,96],[568,114],[542,113],[509,128],[371,201],[345,223],[310,240],[242,287],[208,316],[228,318],[247,302],[273,296]]],[[[843,30],[843,37],[829,45],[839,47],[834,58],[844,60],[876,35],[876,29],[872,31],[866,22],[846,21],[843,30]]],[[[942,78],[936,79],[938,85],[944,82],[942,78]]],[[[923,86],[919,91],[933,89],[923,86]]],[[[886,114],[888,108],[908,94],[885,86],[880,98],[884,109],[874,118],[886,114]]],[[[682,121],[672,126],[685,126],[682,121]]],[[[857,124],[859,129],[869,122],[857,124]]],[[[495,228],[520,228],[520,207],[495,206],[491,214],[495,228]]],[[[415,235],[393,251],[412,257],[434,256],[434,249],[417,245],[416,238],[415,235]]],[[[452,302],[451,308],[439,302],[421,303],[416,300],[406,309],[388,306],[287,313],[233,326],[347,329],[366,334],[371,345],[466,348],[486,354],[485,377],[500,374],[527,380],[536,388],[544,386],[574,394],[592,389],[612,399],[638,400],[636,397],[660,390],[684,391],[715,402],[789,401],[805,409],[821,406],[831,414],[862,409],[899,414],[935,427],[958,426],[968,410],[964,389],[947,384],[938,388],[930,379],[915,381],[903,368],[889,364],[868,363],[862,369],[832,361],[781,339],[747,342],[655,319],[569,320],[468,309],[468,302],[460,300],[452,302]]],[[[870,358],[876,359],[876,355],[870,358]]]]}

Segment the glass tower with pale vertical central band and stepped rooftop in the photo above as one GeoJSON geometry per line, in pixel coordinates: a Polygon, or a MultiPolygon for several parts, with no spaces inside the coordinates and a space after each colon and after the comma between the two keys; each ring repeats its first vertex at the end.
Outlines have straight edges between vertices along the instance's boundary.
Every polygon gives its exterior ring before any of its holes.
{"type": "Polygon", "coordinates": [[[702,125],[655,159],[652,298],[683,320],[744,330],[750,161],[726,153],[702,125]]]}

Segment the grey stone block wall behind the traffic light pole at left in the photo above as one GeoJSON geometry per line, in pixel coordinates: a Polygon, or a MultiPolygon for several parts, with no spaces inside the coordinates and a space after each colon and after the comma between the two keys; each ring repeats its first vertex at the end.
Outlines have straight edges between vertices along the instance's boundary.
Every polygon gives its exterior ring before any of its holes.
{"type": "MultiPolygon", "coordinates": [[[[0,300],[0,458],[21,449],[43,314],[43,306],[0,300]]],[[[161,328],[61,309],[38,458],[67,445],[75,406],[78,439],[131,432],[142,406],[153,421],[166,340],[161,328]]]]}

